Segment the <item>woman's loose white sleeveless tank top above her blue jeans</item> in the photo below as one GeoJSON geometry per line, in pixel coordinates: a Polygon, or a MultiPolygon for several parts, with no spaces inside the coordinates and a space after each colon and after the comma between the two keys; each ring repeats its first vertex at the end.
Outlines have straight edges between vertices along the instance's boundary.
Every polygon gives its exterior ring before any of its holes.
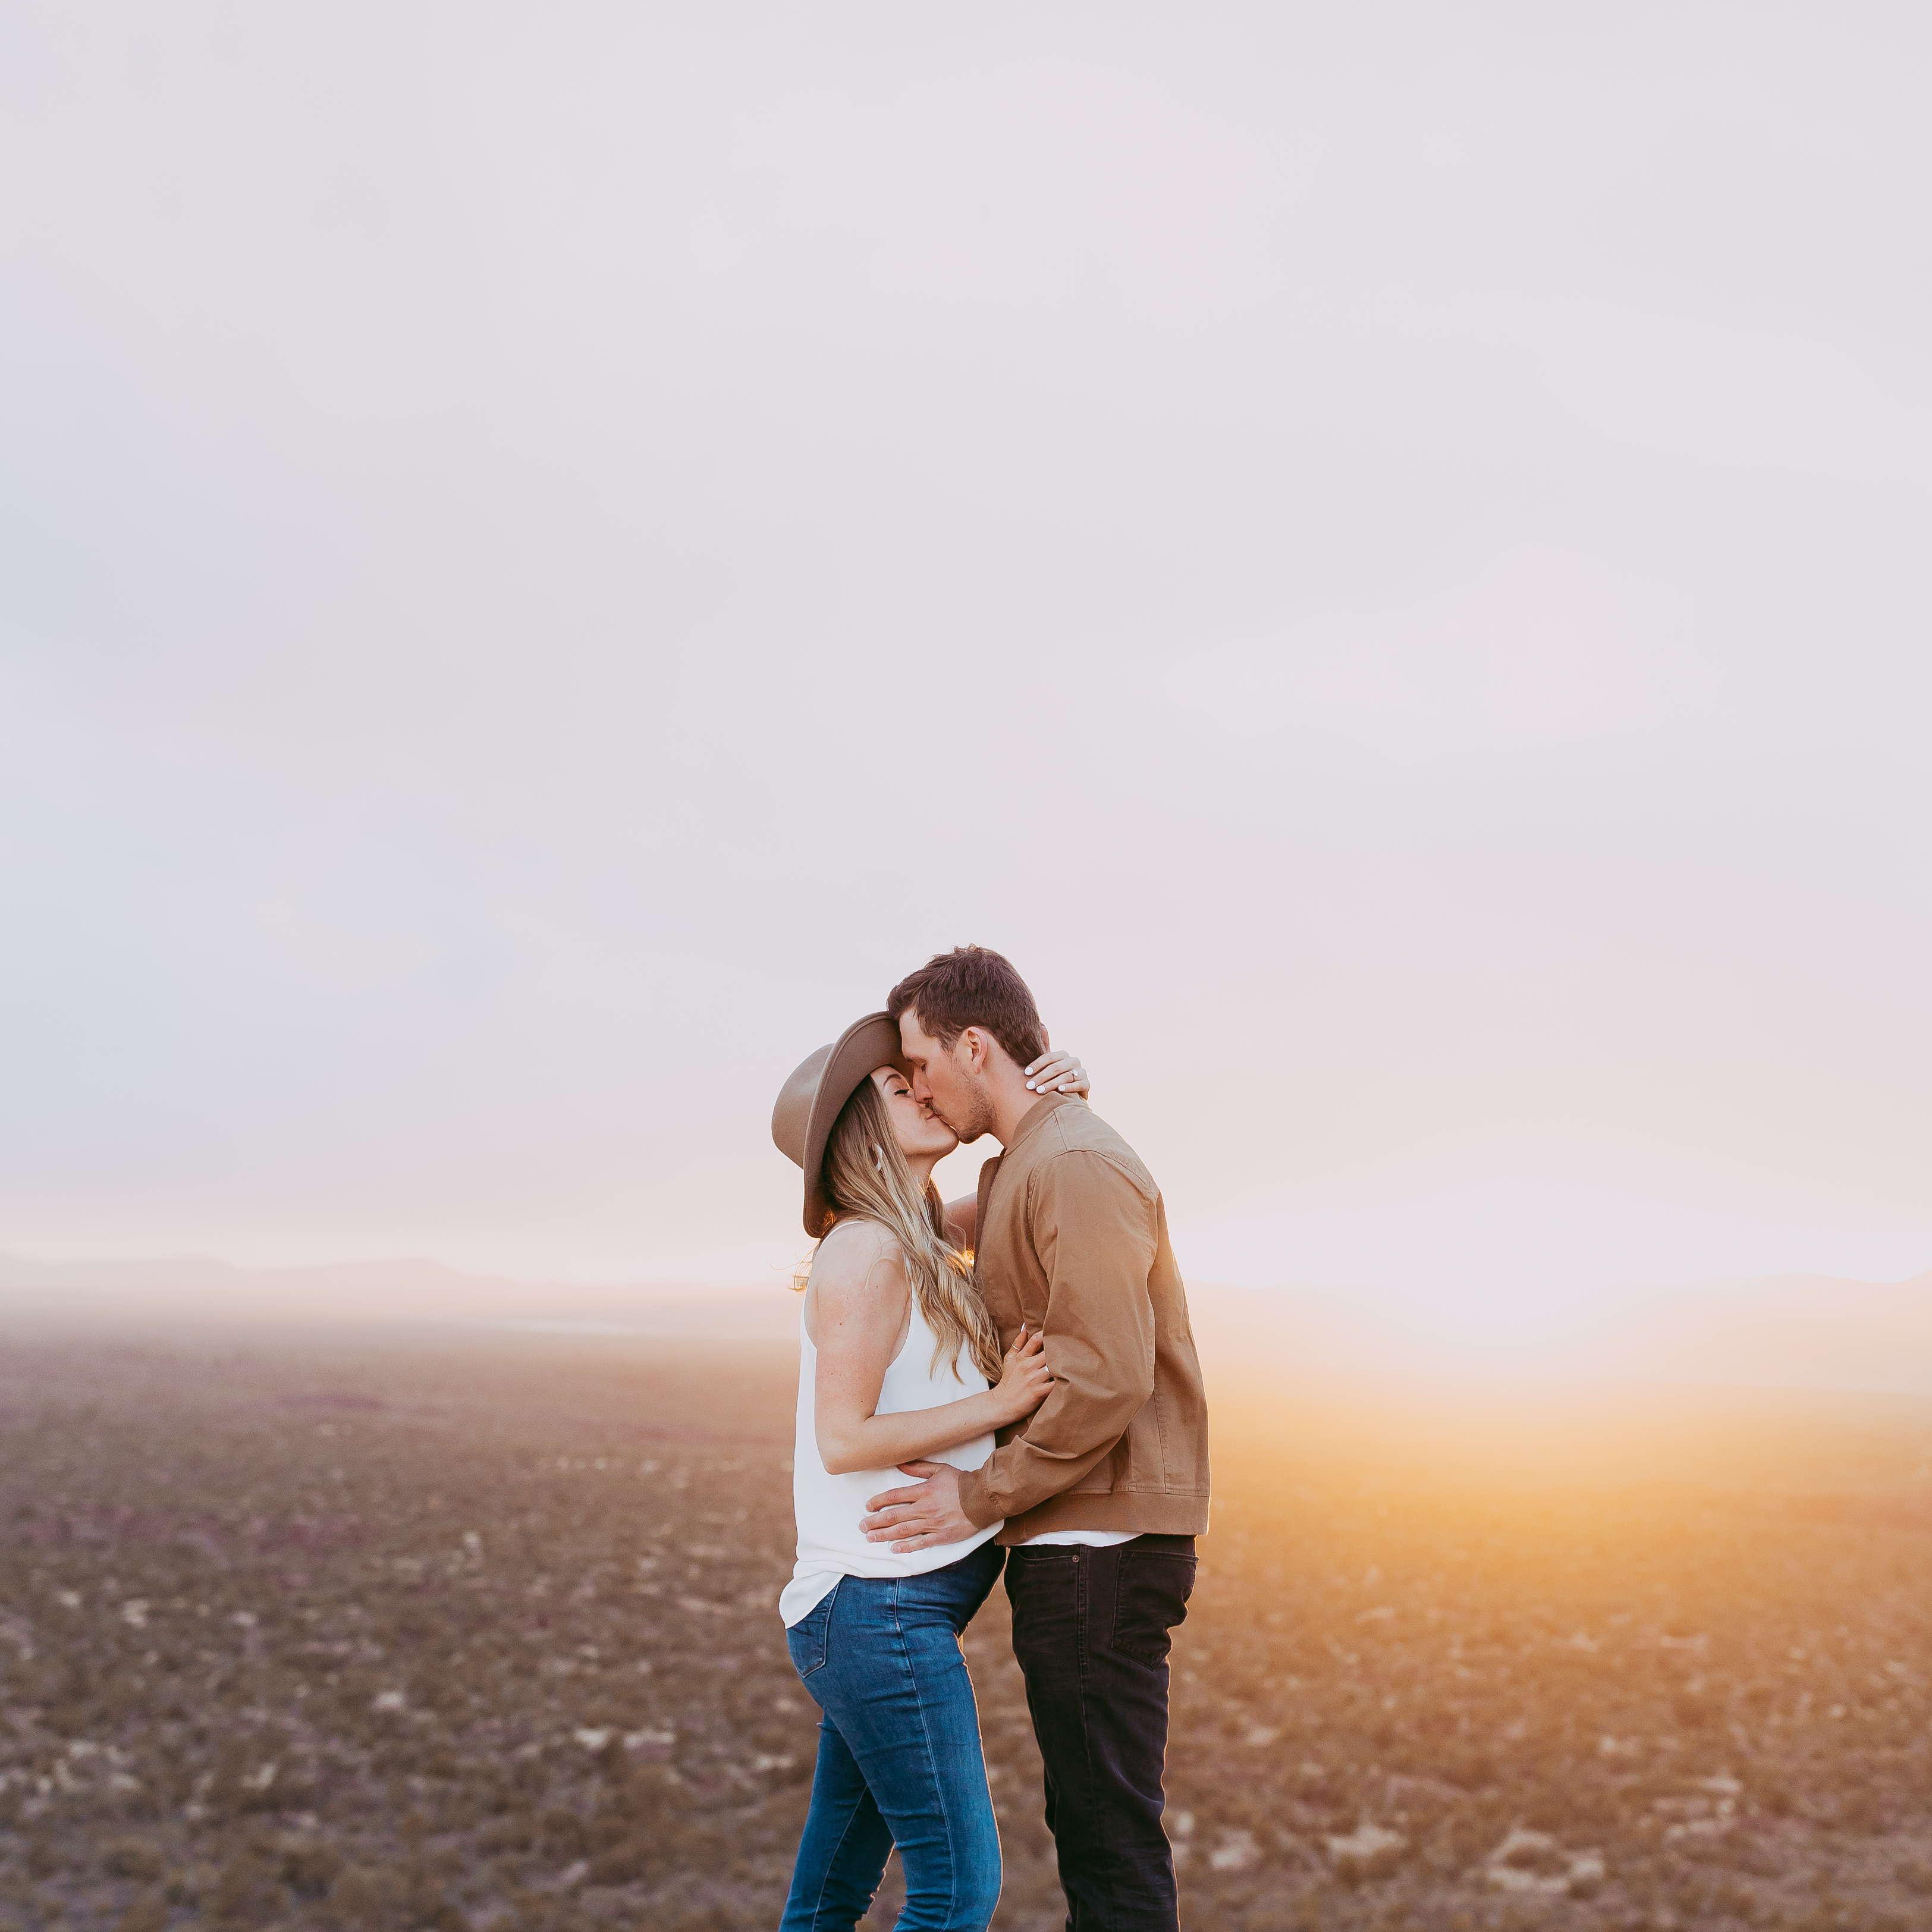
{"type": "MultiPolygon", "coordinates": [[[[862,1468],[844,1476],[831,1476],[819,1459],[817,1434],[817,1370],[819,1352],[811,1347],[806,1331],[806,1312],[798,1310],[798,1439],[792,1445],[792,1507],[798,1513],[798,1567],[792,1580],[779,1598],[779,1615],[786,1627],[798,1623],[840,1577],[918,1577],[925,1571],[958,1563],[968,1549],[978,1549],[989,1536],[999,1532],[993,1522],[956,1544],[933,1544],[929,1549],[908,1549],[895,1555],[891,1544],[869,1544],[858,1519],[866,1515],[866,1503],[881,1490],[902,1490],[910,1476],[896,1468],[862,1468]]],[[[983,1395],[985,1376],[966,1349],[960,1349],[952,1366],[941,1360],[933,1372],[933,1331],[920,1312],[918,1294],[912,1296],[912,1320],[906,1325],[906,1343],[893,1356],[879,1387],[879,1406],[875,1414],[902,1416],[914,1408],[939,1408],[943,1403],[956,1403],[966,1395],[983,1395]]],[[[993,1435],[974,1435],[939,1449],[925,1463],[951,1463],[954,1468],[978,1468],[993,1453],[993,1435]]]]}

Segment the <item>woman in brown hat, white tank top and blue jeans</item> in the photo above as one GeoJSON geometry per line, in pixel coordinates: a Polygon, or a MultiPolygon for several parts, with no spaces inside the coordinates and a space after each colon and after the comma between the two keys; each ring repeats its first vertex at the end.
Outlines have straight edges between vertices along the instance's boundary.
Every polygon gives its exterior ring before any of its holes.
{"type": "MultiPolygon", "coordinates": [[[[1045,1401],[1041,1339],[1005,1358],[954,1242],[933,1167],[958,1144],[912,1097],[885,1014],[846,1028],[784,1084],[771,1134],[806,1175],[811,1256],[800,1310],[792,1499],[798,1567],[779,1600],[811,1692],[819,1760],[781,1932],[852,1932],[893,1845],[906,1874],[898,1932],[985,1932],[999,1832],[960,1633],[999,1577],[999,1524],[896,1553],[866,1540],[866,1499],[896,1464],[978,1468],[993,1430],[1045,1401]]],[[[1086,1094],[1070,1055],[1036,1061],[1039,1090],[1086,1094]]]]}

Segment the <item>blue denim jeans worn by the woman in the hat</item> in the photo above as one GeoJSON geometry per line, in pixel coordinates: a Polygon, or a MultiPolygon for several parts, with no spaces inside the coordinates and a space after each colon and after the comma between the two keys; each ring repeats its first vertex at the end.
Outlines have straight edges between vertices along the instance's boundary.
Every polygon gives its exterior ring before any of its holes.
{"type": "Polygon", "coordinates": [[[896,1932],[985,1932],[999,1830],[958,1640],[1003,1557],[981,1544],[923,1577],[842,1577],[784,1633],[825,1716],[781,1932],[852,1932],[893,1845],[906,1870],[896,1932]]]}

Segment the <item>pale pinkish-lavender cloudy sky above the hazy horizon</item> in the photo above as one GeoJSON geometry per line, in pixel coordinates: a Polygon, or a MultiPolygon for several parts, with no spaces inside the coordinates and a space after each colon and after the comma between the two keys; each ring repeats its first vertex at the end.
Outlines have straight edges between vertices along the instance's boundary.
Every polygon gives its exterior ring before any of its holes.
{"type": "Polygon", "coordinates": [[[1196,1279],[1932,1267],[1926,54],[8,8],[0,1248],[782,1279],[974,939],[1196,1279]]]}

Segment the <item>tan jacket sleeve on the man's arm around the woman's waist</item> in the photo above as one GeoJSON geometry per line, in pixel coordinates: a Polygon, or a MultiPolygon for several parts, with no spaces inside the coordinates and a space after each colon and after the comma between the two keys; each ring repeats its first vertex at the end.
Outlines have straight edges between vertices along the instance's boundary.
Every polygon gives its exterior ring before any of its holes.
{"type": "Polygon", "coordinates": [[[960,1478],[960,1509],[978,1528],[1070,1490],[1153,1393],[1153,1202],[1105,1153],[1076,1148],[1032,1175],[1028,1233],[1047,1273],[1053,1389],[960,1478]]]}

